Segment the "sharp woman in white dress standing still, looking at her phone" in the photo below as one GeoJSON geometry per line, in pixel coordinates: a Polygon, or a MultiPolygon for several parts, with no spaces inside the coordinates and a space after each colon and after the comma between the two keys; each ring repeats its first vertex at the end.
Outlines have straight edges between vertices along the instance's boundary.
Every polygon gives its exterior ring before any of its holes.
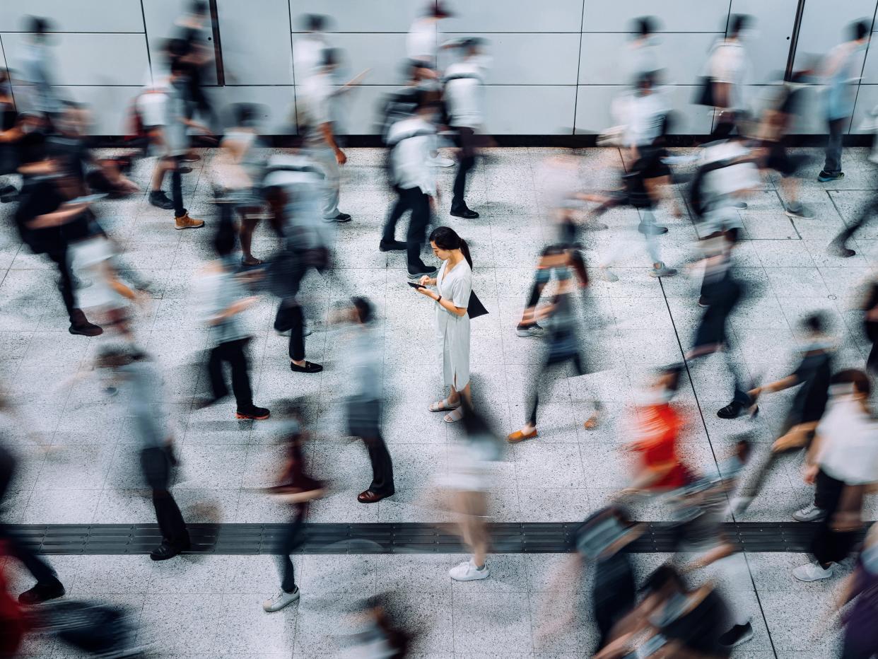
{"type": "Polygon", "coordinates": [[[460,421],[463,395],[472,406],[470,392],[470,315],[467,306],[472,290],[472,258],[466,241],[454,229],[436,228],[430,234],[430,247],[442,262],[435,279],[421,277],[415,290],[435,300],[436,338],[443,358],[443,382],[450,387],[448,398],[430,405],[431,412],[444,412],[445,422],[460,421]],[[432,291],[427,286],[435,286],[432,291]]]}

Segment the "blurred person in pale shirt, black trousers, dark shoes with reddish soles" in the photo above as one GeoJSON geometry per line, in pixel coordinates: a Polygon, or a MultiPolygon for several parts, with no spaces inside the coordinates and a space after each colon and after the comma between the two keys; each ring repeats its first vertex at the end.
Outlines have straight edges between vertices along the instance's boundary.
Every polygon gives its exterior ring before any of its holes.
{"type": "Polygon", "coordinates": [[[205,265],[199,280],[198,295],[214,343],[207,361],[212,399],[205,404],[212,405],[228,395],[223,374],[223,364],[228,363],[232,369],[232,391],[237,406],[235,418],[263,420],[270,416],[270,411],[253,404],[247,358],[251,337],[241,326],[239,318],[255,298],[244,295],[235,273],[234,237],[232,226],[220,226],[213,239],[217,258],[205,265]]]}

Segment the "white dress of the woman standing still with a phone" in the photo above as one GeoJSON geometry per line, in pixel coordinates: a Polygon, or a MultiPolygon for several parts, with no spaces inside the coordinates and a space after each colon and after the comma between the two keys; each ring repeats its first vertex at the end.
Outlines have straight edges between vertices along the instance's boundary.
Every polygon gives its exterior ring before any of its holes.
{"type": "MultiPolygon", "coordinates": [[[[470,264],[461,261],[448,276],[443,261],[436,275],[436,291],[443,300],[450,300],[455,307],[466,308],[470,304],[472,290],[472,271],[470,264]]],[[[441,304],[435,305],[436,340],[442,356],[443,381],[445,386],[453,385],[460,391],[470,382],[470,315],[452,314],[441,304]]]]}

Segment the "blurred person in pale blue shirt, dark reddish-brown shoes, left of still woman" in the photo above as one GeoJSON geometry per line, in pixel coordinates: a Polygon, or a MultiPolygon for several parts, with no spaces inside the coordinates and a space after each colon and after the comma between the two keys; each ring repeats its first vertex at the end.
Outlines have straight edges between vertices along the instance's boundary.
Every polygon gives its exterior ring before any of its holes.
{"type": "Polygon", "coordinates": [[[349,306],[338,313],[338,321],[347,324],[342,340],[348,369],[348,395],[345,402],[348,434],[363,440],[372,467],[370,486],[356,496],[360,503],[378,503],[393,496],[393,462],[381,435],[383,358],[375,350],[377,337],[372,324],[375,310],[362,297],[351,298],[349,306]]]}

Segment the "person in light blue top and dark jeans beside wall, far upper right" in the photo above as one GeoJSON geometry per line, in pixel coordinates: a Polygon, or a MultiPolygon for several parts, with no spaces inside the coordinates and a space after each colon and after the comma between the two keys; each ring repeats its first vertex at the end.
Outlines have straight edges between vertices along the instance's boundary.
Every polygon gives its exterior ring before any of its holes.
{"type": "MultiPolygon", "coordinates": [[[[856,21],[848,29],[848,40],[832,48],[826,55],[821,73],[826,85],[826,124],[829,141],[826,144],[824,168],[817,175],[821,183],[837,181],[845,177],[841,170],[842,138],[853,115],[853,103],[857,98],[859,71],[856,69],[859,54],[869,42],[869,24],[856,21]]],[[[853,233],[853,231],[851,232],[853,233]]]]}

